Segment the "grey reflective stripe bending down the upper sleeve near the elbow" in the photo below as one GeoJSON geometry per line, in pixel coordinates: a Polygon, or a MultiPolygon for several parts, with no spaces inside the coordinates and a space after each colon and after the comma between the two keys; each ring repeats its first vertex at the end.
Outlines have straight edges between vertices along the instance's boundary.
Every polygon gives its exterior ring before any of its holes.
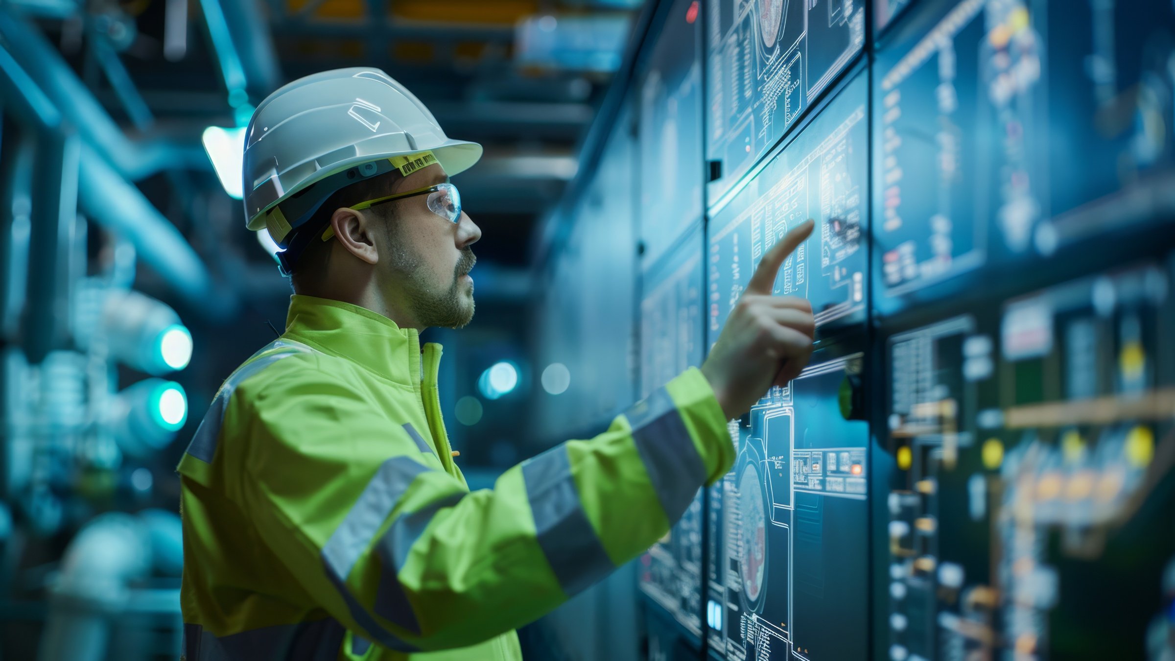
{"type": "MultiPolygon", "coordinates": [[[[338,525],[338,528],[322,547],[322,562],[327,569],[327,577],[347,602],[355,622],[384,647],[404,652],[411,652],[415,648],[396,639],[375,621],[347,588],[347,576],[350,575],[363,550],[372,542],[380,527],[391,515],[400,498],[408,490],[416,476],[427,470],[431,470],[431,468],[407,456],[394,456],[384,461],[367,487],[363,488],[363,493],[351,506],[343,522],[338,525]]],[[[381,583],[381,589],[383,588],[384,585],[381,583]]],[[[391,588],[396,592],[385,594],[384,599],[396,603],[394,610],[397,617],[389,617],[389,620],[410,632],[419,633],[421,628],[416,621],[416,614],[412,613],[400,582],[395,581],[395,586],[389,586],[389,589],[391,588]]]]}

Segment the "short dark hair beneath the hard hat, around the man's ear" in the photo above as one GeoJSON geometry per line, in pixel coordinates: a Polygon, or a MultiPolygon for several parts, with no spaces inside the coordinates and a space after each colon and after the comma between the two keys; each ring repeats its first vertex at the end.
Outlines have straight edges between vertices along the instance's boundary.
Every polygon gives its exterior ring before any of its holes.
{"type": "MultiPolygon", "coordinates": [[[[335,215],[335,211],[365,200],[391,195],[401,180],[403,176],[394,169],[371,179],[343,186],[327,198],[327,201],[318,207],[318,211],[314,212],[310,220],[290,236],[288,245],[294,245],[296,239],[307,240],[306,248],[290,266],[290,286],[295,293],[307,289],[310,283],[327,273],[333,243],[331,241],[321,241],[318,236],[330,225],[330,218],[335,215]],[[302,233],[309,234],[302,235],[302,233]]],[[[371,208],[384,221],[391,221],[392,206],[380,205],[371,208]]]]}

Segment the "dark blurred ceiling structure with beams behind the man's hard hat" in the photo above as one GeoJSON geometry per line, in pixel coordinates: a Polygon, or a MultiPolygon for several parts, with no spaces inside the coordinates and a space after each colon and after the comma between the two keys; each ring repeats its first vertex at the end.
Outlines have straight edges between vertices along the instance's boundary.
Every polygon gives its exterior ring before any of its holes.
{"type": "MultiPolygon", "coordinates": [[[[456,183],[483,229],[478,268],[502,275],[484,279],[502,285],[499,291],[483,291],[482,281],[479,291],[509,299],[526,295],[522,274],[535,223],[576,174],[576,147],[610,80],[610,62],[618,62],[636,5],[7,0],[0,12],[35,26],[72,69],[55,78],[79,79],[132,143],[170,146],[156,173],[130,179],[212,276],[243,287],[246,300],[288,288],[243,228],[240,202],[220,188],[200,148],[202,131],[243,123],[254,105],[295,78],[335,67],[383,68],[419,96],[449,135],[485,146],[483,160],[456,183]],[[610,49],[612,60],[599,58],[610,49]],[[584,60],[584,52],[596,59],[584,60]]],[[[148,269],[141,286],[152,288],[153,278],[148,269]]]]}

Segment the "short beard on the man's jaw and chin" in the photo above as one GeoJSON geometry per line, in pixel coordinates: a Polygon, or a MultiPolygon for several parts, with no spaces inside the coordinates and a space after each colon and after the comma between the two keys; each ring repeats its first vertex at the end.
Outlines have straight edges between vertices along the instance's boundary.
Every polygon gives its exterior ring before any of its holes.
{"type": "Polygon", "coordinates": [[[417,323],[425,328],[462,328],[474,319],[474,298],[470,295],[469,300],[465,300],[461,278],[469,273],[477,261],[474,251],[466,247],[461,252],[461,259],[454,268],[452,282],[448,288],[438,291],[424,273],[419,255],[411,254],[402,241],[394,241],[392,246],[395,246],[392,268],[403,276],[404,294],[417,323]]]}

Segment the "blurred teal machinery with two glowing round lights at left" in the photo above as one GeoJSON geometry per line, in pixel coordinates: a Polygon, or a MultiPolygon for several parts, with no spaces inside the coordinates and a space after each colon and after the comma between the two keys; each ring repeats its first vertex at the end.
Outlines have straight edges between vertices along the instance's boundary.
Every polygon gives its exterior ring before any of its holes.
{"type": "MultiPolygon", "coordinates": [[[[65,262],[86,263],[83,247],[65,262]]],[[[5,323],[19,333],[2,354],[4,600],[8,609],[45,600],[45,661],[172,657],[180,646],[180,520],[149,506],[160,453],[188,415],[184,388],[168,379],[193,342],[169,306],[127,288],[133,253],[115,253],[121,266],[74,281],[67,315],[52,320],[67,326],[67,341],[40,360],[20,340],[51,330],[27,313],[26,323],[5,323]],[[60,563],[43,565],[41,549],[62,540],[60,563]]],[[[27,259],[6,256],[11,283],[27,259]]],[[[13,633],[7,647],[31,655],[34,641],[13,633]]]]}

